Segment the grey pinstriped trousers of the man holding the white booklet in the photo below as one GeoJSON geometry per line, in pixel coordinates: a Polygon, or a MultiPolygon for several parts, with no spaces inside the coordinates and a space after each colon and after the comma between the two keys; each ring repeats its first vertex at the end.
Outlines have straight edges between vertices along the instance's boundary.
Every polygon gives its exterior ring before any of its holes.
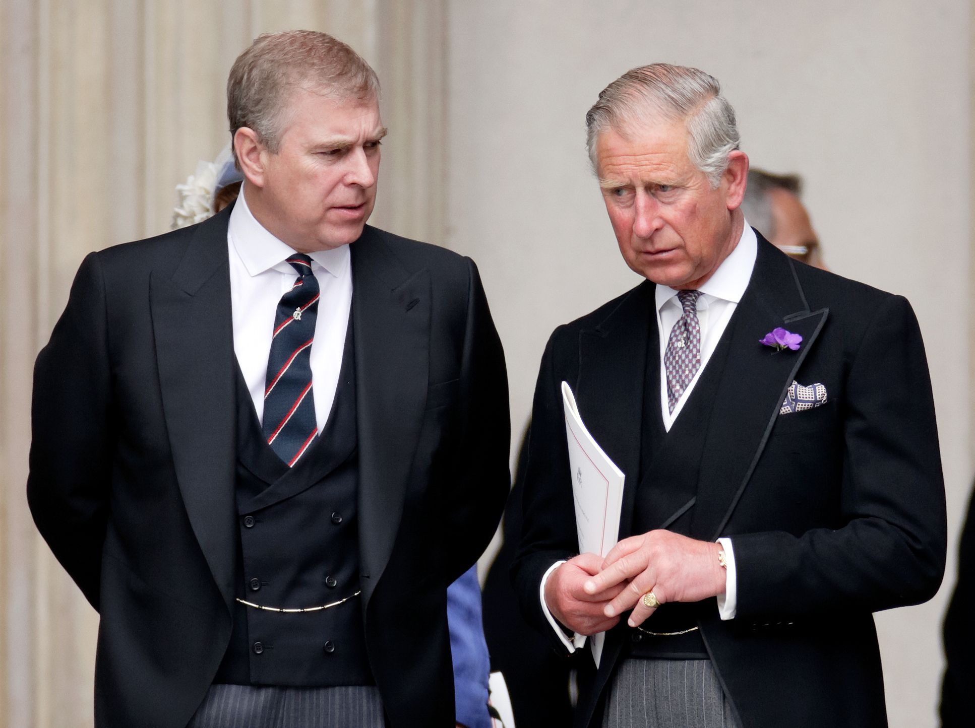
{"type": "Polygon", "coordinates": [[[738,728],[710,660],[624,660],[603,728],[738,728]]]}

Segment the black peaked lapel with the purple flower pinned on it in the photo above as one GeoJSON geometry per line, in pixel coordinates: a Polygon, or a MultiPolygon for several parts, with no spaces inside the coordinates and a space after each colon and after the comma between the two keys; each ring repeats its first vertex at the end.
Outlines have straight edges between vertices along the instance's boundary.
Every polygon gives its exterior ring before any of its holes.
{"type": "Polygon", "coordinates": [[[725,336],[730,348],[705,441],[691,535],[714,540],[731,516],[771,432],[786,390],[815,346],[829,309],[809,311],[796,263],[759,236],[752,279],[725,336]],[[776,326],[802,336],[799,351],[759,340],[776,326]]]}

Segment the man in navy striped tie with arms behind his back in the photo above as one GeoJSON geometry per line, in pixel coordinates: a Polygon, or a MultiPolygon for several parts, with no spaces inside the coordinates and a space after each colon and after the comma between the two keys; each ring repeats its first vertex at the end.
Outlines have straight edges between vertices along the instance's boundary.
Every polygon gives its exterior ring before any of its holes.
{"type": "Polygon", "coordinates": [[[447,587],[509,487],[477,268],[366,224],[386,130],[344,43],[262,35],[227,100],[237,202],[90,254],[35,369],[96,725],[448,728],[447,587]]]}

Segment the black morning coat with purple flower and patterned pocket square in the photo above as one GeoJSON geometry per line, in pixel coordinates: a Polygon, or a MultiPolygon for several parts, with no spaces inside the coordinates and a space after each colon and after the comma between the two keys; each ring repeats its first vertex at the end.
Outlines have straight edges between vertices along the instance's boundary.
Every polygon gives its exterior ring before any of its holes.
{"type": "MultiPolygon", "coordinates": [[[[643,282],[560,326],[545,349],[514,566],[526,614],[565,652],[538,599],[545,570],[578,550],[565,380],[626,474],[620,537],[633,535],[636,500],[650,498],[649,510],[673,515],[656,527],[689,508],[692,537],[731,538],[737,616],[722,622],[712,599],[698,624],[742,728],[886,725],[871,613],[930,598],[946,549],[931,385],[910,304],[793,261],[760,235],[723,333],[730,347],[696,491],[638,492],[643,388],[660,386],[659,361],[646,361],[647,337],[658,336],[654,290],[643,282]],[[759,343],[776,326],[801,334],[799,351],[759,343]],[[827,402],[780,415],[794,380],[824,384],[827,402]]],[[[600,724],[628,631],[624,618],[607,635],[599,671],[583,679],[577,726],[600,724]]]]}

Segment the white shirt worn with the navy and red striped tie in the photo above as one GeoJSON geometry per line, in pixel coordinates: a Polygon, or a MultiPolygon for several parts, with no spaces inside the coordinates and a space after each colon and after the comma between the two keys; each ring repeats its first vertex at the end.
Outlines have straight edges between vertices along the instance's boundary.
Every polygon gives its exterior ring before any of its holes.
{"type": "MultiPolygon", "coordinates": [[[[267,357],[274,317],[281,296],[292,289],[297,273],[287,259],[295,250],[269,233],[254,218],[244,197],[230,212],[227,248],[230,257],[230,303],[233,310],[234,354],[251,392],[257,419],[264,415],[267,357]]],[[[315,420],[324,432],[338,387],[345,332],[352,308],[352,266],[348,246],[309,253],[321,296],[311,346],[315,420]]]]}

